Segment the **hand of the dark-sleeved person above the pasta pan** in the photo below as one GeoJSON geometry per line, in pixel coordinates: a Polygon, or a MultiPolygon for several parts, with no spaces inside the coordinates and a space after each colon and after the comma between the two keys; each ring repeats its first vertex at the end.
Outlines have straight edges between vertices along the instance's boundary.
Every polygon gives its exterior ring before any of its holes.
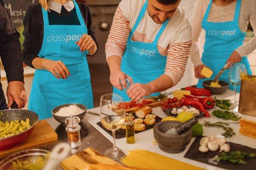
{"type": "Polygon", "coordinates": [[[8,99],[8,105],[7,105],[8,108],[12,106],[13,101],[16,102],[19,109],[22,109],[23,107],[25,107],[27,98],[26,98],[26,92],[25,92],[25,87],[23,85],[23,82],[21,81],[9,82],[7,86],[6,95],[8,99]]]}

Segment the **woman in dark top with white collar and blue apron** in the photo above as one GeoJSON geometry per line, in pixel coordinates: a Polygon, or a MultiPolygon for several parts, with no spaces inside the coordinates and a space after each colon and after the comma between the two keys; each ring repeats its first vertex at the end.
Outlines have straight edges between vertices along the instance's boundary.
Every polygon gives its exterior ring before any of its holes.
{"type": "MultiPolygon", "coordinates": [[[[40,119],[51,117],[52,109],[62,104],[79,103],[86,105],[88,109],[93,107],[87,54],[89,50],[89,54],[93,55],[97,46],[91,36],[88,35],[88,29],[79,7],[85,10],[84,7],[87,6],[82,3],[78,5],[75,0],[68,0],[64,5],[50,1],[49,9],[51,12],[40,6],[44,22],[43,39],[38,54],[40,58],[35,58],[33,61],[33,66],[37,69],[29,97],[29,110],[38,113],[40,119]],[[63,11],[69,12],[67,20],[70,20],[71,23],[65,23],[65,20],[63,21],[64,25],[61,25],[58,23],[59,19],[52,19],[54,15],[58,15],[56,12],[61,14],[63,11]],[[76,23],[74,23],[75,20],[76,23]],[[49,68],[47,64],[44,64],[47,61],[55,63],[49,68]],[[40,63],[42,64],[40,65],[40,63]],[[52,70],[51,68],[54,66],[55,69],[52,70]]],[[[33,12],[32,8],[30,12],[33,12]]],[[[27,18],[29,18],[30,12],[27,14],[27,18]]],[[[83,14],[83,16],[85,15],[83,14]]],[[[32,26],[29,19],[27,20],[25,18],[27,23],[24,23],[24,46],[29,44],[26,41],[26,35],[29,32],[29,26],[32,26]]],[[[90,21],[86,22],[88,24],[90,21]]],[[[29,35],[27,37],[29,39],[29,35]]]]}

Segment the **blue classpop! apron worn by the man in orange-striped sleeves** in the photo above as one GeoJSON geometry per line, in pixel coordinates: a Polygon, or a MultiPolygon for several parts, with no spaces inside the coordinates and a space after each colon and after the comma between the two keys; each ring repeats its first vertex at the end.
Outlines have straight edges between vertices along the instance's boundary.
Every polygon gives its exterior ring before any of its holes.
{"type": "MultiPolygon", "coordinates": [[[[125,74],[129,75],[134,83],[147,84],[156,78],[159,78],[160,75],[163,75],[166,67],[166,56],[160,55],[157,49],[157,42],[166,28],[169,20],[166,20],[157,36],[155,37],[152,43],[144,43],[139,41],[131,40],[132,35],[137,29],[140,21],[145,15],[147,10],[148,0],[145,1],[140,14],[132,28],[130,35],[127,39],[127,45],[125,53],[122,57],[121,70],[125,74]]],[[[130,101],[125,90],[119,90],[113,87],[113,93],[121,95],[124,98],[124,101],[130,101]]],[[[159,93],[152,93],[151,96],[159,95],[159,93]]]]}

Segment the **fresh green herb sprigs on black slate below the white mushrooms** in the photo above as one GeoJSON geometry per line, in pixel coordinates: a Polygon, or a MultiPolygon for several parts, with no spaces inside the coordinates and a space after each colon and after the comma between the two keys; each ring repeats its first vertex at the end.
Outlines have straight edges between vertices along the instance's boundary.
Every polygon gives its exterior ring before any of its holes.
{"type": "Polygon", "coordinates": [[[231,152],[224,152],[222,156],[219,156],[214,159],[214,161],[230,161],[233,164],[246,164],[247,162],[243,160],[243,158],[255,158],[256,153],[245,153],[241,151],[231,151],[231,152]]]}

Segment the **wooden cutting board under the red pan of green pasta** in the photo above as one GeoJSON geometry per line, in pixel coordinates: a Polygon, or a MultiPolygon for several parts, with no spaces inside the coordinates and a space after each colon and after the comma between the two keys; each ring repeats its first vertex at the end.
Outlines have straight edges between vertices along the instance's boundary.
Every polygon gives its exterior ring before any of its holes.
{"type": "Polygon", "coordinates": [[[50,144],[57,143],[58,135],[48,124],[47,121],[38,121],[35,125],[29,138],[26,139],[20,146],[13,147],[9,150],[0,151],[0,158],[11,155],[17,151],[29,149],[29,148],[40,148],[50,144]]]}

